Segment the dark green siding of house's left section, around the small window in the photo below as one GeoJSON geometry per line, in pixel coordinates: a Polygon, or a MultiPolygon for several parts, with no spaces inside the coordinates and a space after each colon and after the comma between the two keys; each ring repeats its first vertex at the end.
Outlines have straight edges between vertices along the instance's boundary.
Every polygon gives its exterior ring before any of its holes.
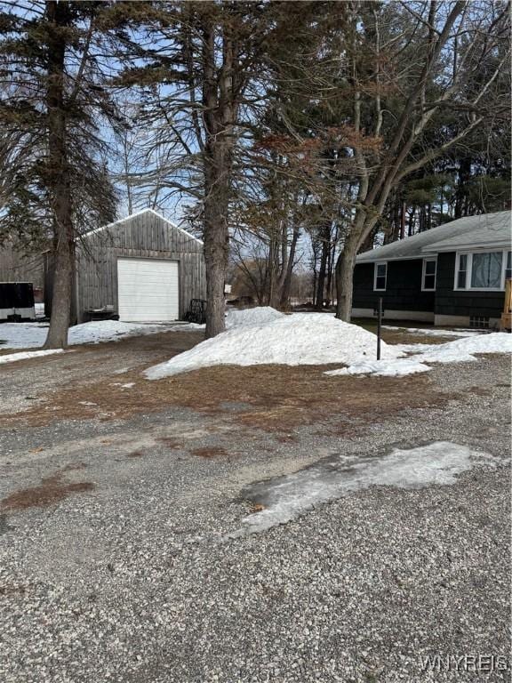
{"type": "Polygon", "coordinates": [[[355,309],[375,309],[382,297],[386,311],[434,312],[434,292],[421,291],[423,259],[388,261],[388,280],[385,292],[373,291],[373,263],[358,263],[354,269],[355,309]]]}

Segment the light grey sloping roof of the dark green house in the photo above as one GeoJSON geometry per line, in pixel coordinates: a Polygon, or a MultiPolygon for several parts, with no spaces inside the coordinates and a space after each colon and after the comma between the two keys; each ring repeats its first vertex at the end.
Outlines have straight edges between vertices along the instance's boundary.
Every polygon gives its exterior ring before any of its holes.
{"type": "Polygon", "coordinates": [[[356,262],[421,258],[429,253],[454,252],[458,249],[507,248],[511,243],[510,218],[510,211],[467,216],[361,253],[356,262]]]}

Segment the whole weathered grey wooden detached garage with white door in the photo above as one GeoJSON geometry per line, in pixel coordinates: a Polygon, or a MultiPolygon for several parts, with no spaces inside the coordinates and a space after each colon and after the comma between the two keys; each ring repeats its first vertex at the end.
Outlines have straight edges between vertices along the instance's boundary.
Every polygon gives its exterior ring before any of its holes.
{"type": "MultiPolygon", "coordinates": [[[[45,286],[50,313],[52,272],[45,286]]],[[[152,209],[93,230],[81,238],[74,315],[124,322],[182,319],[191,299],[204,299],[203,243],[152,209]]]]}

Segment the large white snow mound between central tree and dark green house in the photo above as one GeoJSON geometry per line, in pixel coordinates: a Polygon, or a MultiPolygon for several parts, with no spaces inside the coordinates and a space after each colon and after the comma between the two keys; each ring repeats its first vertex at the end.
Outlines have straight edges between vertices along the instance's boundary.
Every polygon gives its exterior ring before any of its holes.
{"type": "MultiPolygon", "coordinates": [[[[296,313],[276,317],[267,323],[236,325],[197,344],[194,349],[150,367],[146,376],[156,380],[220,365],[350,365],[364,358],[374,358],[376,348],[376,336],[363,327],[318,313],[296,313]]],[[[381,354],[382,358],[403,355],[384,342],[381,354]]]]}

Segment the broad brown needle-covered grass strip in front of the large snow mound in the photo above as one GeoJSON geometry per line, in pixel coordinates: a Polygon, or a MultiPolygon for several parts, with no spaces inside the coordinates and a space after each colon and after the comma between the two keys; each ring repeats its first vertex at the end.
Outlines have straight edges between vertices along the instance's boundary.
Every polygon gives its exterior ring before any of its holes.
{"type": "MultiPolygon", "coordinates": [[[[131,390],[120,390],[112,377],[66,388],[22,414],[4,415],[0,424],[108,421],[181,406],[219,415],[224,422],[288,434],[313,422],[332,428],[335,417],[336,430],[347,434],[354,417],[378,420],[404,407],[442,406],[453,398],[438,390],[427,375],[328,377],[326,369],[332,366],[216,366],[153,382],[142,379],[137,370],[124,374],[124,382],[136,382],[131,390]],[[251,407],[228,411],[222,407],[225,402],[251,407]]],[[[164,443],[180,447],[174,438],[165,438],[164,443]]]]}

